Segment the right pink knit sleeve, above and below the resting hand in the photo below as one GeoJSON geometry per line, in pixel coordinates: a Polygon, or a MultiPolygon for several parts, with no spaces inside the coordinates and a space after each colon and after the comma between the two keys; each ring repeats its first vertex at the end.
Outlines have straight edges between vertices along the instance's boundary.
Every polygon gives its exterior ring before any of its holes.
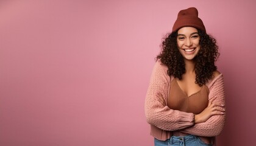
{"type": "MultiPolygon", "coordinates": [[[[217,98],[213,100],[213,103],[225,105],[224,78],[222,74],[216,77],[216,80],[213,81],[213,84],[209,88],[209,99],[216,96],[217,98]]],[[[206,122],[196,123],[193,127],[185,128],[181,131],[197,136],[218,136],[224,127],[225,119],[226,113],[224,115],[215,115],[210,117],[206,122]]]]}

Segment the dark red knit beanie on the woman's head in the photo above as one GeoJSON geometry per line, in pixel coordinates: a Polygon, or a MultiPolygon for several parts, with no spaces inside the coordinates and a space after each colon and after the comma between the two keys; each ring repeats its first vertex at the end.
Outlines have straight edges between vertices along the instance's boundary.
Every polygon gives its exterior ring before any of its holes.
{"type": "Polygon", "coordinates": [[[172,27],[172,32],[175,32],[185,26],[195,27],[206,32],[204,23],[200,18],[198,18],[198,11],[194,7],[180,10],[180,12],[178,13],[178,17],[172,27]]]}

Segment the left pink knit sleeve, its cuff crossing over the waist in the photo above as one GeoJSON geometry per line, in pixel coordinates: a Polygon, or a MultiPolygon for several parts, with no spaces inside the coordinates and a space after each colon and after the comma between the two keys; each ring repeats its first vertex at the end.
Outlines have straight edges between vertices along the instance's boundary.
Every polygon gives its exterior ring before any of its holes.
{"type": "MultiPolygon", "coordinates": [[[[167,74],[167,67],[160,61],[155,63],[148,92],[145,100],[145,114],[147,122],[157,128],[166,131],[180,130],[194,124],[194,114],[185,113],[163,106],[157,100],[157,92],[162,94],[167,103],[170,77],[167,74]]],[[[167,105],[167,104],[166,104],[167,105]]]]}

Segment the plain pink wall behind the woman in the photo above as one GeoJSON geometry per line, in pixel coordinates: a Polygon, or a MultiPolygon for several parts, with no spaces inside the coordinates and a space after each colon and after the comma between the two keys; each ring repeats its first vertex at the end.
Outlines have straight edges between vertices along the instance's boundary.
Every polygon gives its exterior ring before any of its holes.
{"type": "Polygon", "coordinates": [[[144,98],[177,12],[218,40],[227,122],[256,136],[256,1],[0,1],[0,145],[153,145],[144,98]]]}

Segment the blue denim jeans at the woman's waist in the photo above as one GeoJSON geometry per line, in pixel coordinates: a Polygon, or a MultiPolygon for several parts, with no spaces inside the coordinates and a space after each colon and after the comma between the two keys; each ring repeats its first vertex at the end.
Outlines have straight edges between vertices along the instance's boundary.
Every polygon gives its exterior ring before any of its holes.
{"type": "Polygon", "coordinates": [[[155,146],[211,146],[211,144],[205,144],[198,136],[171,136],[166,141],[160,141],[155,138],[155,146]]]}

